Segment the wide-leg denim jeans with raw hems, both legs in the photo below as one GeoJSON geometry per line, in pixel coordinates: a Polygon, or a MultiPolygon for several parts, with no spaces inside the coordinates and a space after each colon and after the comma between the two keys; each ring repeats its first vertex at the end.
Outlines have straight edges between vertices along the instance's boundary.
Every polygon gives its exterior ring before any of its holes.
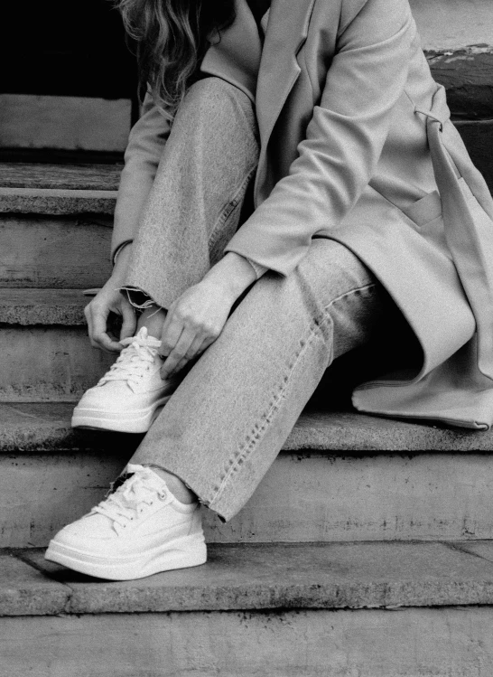
{"type": "MultiPolygon", "coordinates": [[[[126,287],[167,307],[200,281],[237,230],[257,155],[247,96],[216,78],[194,84],[165,146],[126,287]]],[[[249,289],[131,463],[178,475],[230,519],[254,493],[330,362],[388,335],[395,313],[349,249],[313,240],[292,275],[267,272],[249,289]]]]}

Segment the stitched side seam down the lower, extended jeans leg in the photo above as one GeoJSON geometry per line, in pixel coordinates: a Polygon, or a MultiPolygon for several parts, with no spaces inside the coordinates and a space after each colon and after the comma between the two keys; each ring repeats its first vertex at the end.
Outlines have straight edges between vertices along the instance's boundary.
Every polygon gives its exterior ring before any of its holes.
{"type": "MultiPolygon", "coordinates": [[[[219,487],[216,493],[214,494],[212,500],[209,502],[209,505],[211,505],[212,503],[216,503],[220,499],[221,494],[224,493],[224,490],[226,488],[226,485],[228,484],[228,480],[230,479],[231,475],[233,475],[233,473],[235,473],[237,469],[247,460],[248,456],[251,456],[251,454],[255,451],[257,445],[262,441],[265,429],[274,418],[275,413],[280,408],[281,402],[284,399],[283,397],[284,393],[287,390],[287,387],[293,375],[293,371],[300,362],[302,355],[304,355],[304,353],[306,353],[308,348],[312,345],[313,339],[319,333],[321,333],[322,328],[326,324],[330,324],[332,322],[332,318],[330,317],[330,315],[327,315],[327,311],[330,309],[330,307],[347,296],[351,296],[352,294],[356,294],[357,292],[364,291],[371,287],[376,286],[377,284],[375,282],[370,282],[367,283],[366,285],[362,285],[361,287],[354,287],[353,289],[350,289],[349,291],[340,294],[340,296],[336,296],[335,298],[331,299],[330,303],[327,306],[323,306],[321,315],[319,315],[318,317],[314,317],[312,319],[312,322],[310,323],[308,330],[305,334],[306,339],[303,338],[301,339],[302,343],[301,349],[298,353],[295,354],[294,362],[289,367],[288,373],[284,376],[280,388],[274,395],[274,399],[269,402],[266,413],[260,417],[260,424],[258,426],[254,426],[253,430],[247,435],[247,439],[243,447],[240,447],[238,449],[237,454],[233,458],[232,457],[229,458],[228,466],[226,466],[225,468],[225,475],[220,481],[219,487]]],[[[333,349],[333,341],[332,341],[332,349],[333,349]]]]}

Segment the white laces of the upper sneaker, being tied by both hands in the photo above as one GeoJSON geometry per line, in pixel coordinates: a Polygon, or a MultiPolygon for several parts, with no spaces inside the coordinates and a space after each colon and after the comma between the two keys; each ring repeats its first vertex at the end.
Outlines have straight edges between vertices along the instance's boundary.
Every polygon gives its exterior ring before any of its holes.
{"type": "Polygon", "coordinates": [[[98,382],[98,385],[104,385],[107,381],[137,383],[153,364],[157,349],[161,345],[161,341],[153,338],[153,336],[132,336],[123,339],[120,343],[127,347],[120,353],[116,362],[98,382]]]}

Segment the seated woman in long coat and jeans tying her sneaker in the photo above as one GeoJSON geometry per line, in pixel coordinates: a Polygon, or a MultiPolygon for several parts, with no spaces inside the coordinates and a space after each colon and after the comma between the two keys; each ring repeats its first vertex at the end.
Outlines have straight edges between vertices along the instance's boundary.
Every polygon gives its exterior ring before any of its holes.
{"type": "Polygon", "coordinates": [[[120,5],[150,89],[87,317],[121,353],[73,425],[148,432],[47,558],[139,578],[205,561],[199,502],[230,519],[353,348],[399,358],[358,409],[488,428],[493,202],[407,0],[120,5]]]}

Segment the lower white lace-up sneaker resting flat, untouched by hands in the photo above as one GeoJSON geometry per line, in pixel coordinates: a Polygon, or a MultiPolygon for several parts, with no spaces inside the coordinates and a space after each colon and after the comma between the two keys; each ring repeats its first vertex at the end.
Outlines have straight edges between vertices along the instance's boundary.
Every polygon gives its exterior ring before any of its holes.
{"type": "Polygon", "coordinates": [[[59,531],[45,558],[89,576],[128,580],[207,559],[198,503],[180,503],[164,480],[129,464],[124,484],[59,531]]]}

